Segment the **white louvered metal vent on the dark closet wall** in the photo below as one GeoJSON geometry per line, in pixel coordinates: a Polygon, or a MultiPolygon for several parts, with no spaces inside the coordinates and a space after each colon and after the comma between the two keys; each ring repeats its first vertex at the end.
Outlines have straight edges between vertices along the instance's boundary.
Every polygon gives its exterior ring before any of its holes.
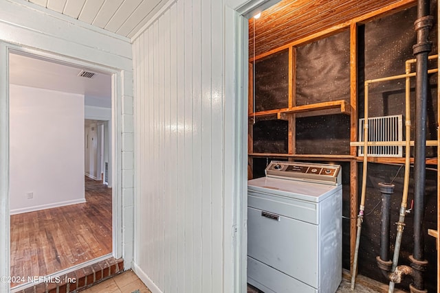
{"type": "MultiPolygon", "coordinates": [[[[364,141],[364,118],[359,119],[359,141],[364,141]]],[[[402,115],[369,118],[369,141],[402,141],[402,115]]],[[[403,156],[403,147],[396,145],[371,145],[369,156],[403,156]]],[[[364,156],[364,147],[358,148],[364,156]]]]}

